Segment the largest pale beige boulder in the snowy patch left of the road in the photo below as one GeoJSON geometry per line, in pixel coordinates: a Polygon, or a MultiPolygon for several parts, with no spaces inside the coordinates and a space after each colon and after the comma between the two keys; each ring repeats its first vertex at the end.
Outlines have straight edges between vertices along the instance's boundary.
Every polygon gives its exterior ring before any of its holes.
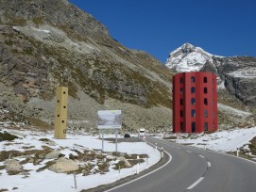
{"type": "Polygon", "coordinates": [[[56,163],[50,166],[48,169],[57,173],[64,173],[70,171],[76,171],[79,168],[78,164],[71,159],[60,157],[56,163]]]}

